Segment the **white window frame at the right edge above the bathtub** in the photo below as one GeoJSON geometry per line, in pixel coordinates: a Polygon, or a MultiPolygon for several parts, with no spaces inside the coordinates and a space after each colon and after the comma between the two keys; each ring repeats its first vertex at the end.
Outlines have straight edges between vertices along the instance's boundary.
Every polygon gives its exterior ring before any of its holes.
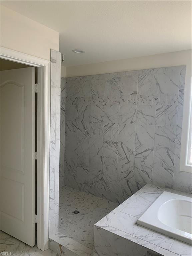
{"type": "Polygon", "coordinates": [[[189,83],[185,83],[183,122],[181,135],[181,159],[180,171],[192,172],[192,164],[190,163],[191,140],[192,140],[192,78],[189,83]]]}

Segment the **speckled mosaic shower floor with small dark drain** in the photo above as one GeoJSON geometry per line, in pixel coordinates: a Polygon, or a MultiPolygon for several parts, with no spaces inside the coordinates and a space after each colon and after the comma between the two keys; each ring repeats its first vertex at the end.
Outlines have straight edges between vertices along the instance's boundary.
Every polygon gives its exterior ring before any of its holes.
{"type": "Polygon", "coordinates": [[[63,186],[59,191],[59,232],[93,249],[94,224],[117,206],[117,203],[63,186]],[[75,210],[79,213],[74,214],[75,210]]]}

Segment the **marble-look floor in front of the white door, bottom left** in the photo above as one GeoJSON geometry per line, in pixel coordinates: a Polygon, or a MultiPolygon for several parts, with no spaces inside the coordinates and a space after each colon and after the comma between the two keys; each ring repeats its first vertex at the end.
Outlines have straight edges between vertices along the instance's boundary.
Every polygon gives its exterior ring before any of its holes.
{"type": "Polygon", "coordinates": [[[10,255],[10,253],[15,256],[58,256],[49,249],[41,251],[36,245],[31,247],[0,230],[0,255],[10,255]]]}

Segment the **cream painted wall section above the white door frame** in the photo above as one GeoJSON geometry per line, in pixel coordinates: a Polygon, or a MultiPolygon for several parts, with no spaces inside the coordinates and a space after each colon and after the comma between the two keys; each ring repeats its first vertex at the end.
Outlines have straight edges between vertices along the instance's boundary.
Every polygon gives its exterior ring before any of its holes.
{"type": "Polygon", "coordinates": [[[0,5],[0,46],[50,60],[59,51],[59,32],[0,5]]]}

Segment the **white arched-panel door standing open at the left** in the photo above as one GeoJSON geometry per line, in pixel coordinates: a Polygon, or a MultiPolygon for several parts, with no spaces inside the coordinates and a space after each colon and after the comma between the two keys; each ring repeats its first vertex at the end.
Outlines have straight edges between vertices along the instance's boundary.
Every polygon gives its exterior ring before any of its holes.
{"type": "Polygon", "coordinates": [[[0,71],[0,230],[34,246],[35,68],[0,71]]]}

